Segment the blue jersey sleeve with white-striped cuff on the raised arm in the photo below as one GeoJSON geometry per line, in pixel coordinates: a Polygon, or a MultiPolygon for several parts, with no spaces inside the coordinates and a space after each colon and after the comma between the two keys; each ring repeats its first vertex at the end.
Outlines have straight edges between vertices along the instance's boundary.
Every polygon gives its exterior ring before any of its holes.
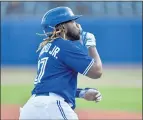
{"type": "Polygon", "coordinates": [[[61,50],[61,59],[68,67],[83,75],[86,75],[94,64],[94,59],[88,56],[83,46],[76,42],[66,44],[66,47],[61,50]]]}

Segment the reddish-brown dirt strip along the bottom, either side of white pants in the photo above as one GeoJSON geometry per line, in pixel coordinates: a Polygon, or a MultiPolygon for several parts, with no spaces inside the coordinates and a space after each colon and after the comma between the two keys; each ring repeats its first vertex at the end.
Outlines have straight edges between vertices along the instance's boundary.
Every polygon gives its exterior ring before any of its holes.
{"type": "MultiPolygon", "coordinates": [[[[18,119],[19,116],[18,105],[2,105],[1,106],[1,120],[18,119]]],[[[128,113],[128,112],[117,112],[117,111],[96,111],[96,110],[76,110],[80,119],[124,119],[124,120],[141,120],[141,113],[128,113]]]]}

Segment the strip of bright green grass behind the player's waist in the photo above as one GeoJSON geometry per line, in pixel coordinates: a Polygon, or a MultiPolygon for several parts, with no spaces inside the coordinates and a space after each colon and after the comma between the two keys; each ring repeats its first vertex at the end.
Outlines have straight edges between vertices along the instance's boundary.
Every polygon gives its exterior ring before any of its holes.
{"type": "MultiPolygon", "coordinates": [[[[30,97],[32,85],[2,85],[2,104],[23,105],[30,97]]],[[[142,89],[125,87],[99,87],[103,99],[99,103],[77,99],[77,108],[98,110],[142,111],[142,89]]]]}

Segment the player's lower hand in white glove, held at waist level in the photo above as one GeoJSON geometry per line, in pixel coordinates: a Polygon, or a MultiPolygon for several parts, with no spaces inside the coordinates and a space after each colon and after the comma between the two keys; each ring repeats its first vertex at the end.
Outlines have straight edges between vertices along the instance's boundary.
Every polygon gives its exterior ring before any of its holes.
{"type": "Polygon", "coordinates": [[[82,92],[82,98],[87,101],[100,102],[102,100],[102,95],[97,89],[88,89],[82,92]]]}

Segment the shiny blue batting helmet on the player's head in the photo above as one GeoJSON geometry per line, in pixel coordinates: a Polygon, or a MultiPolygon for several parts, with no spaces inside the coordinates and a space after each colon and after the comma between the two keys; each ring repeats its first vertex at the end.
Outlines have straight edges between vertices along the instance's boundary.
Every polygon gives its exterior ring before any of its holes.
{"type": "Polygon", "coordinates": [[[70,20],[76,20],[81,16],[82,15],[74,15],[72,10],[68,7],[56,7],[45,13],[41,25],[44,33],[49,33],[54,30],[56,25],[70,20]]]}

